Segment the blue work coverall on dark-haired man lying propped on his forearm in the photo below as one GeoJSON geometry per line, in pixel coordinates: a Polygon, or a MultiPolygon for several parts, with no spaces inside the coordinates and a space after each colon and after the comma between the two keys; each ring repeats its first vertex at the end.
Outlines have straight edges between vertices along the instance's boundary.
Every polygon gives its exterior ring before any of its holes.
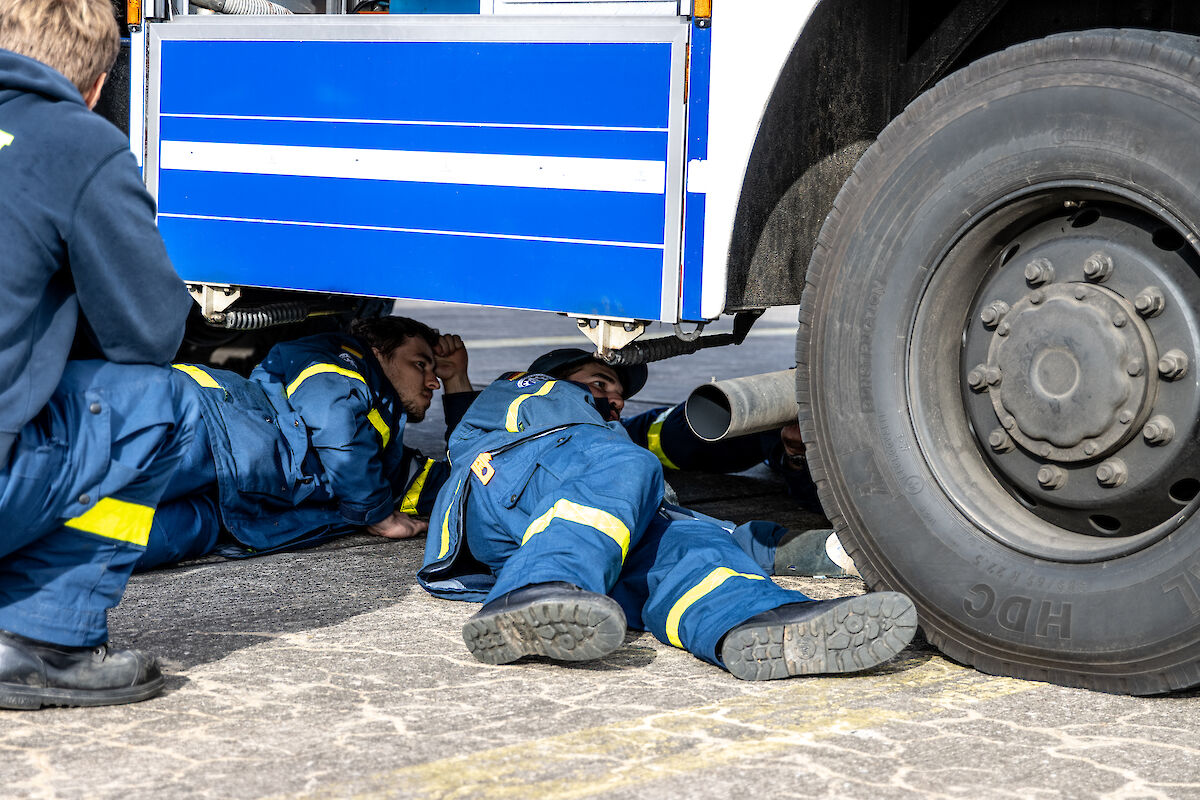
{"type": "Polygon", "coordinates": [[[203,398],[204,441],[172,480],[139,570],[214,551],[311,547],[379,522],[396,505],[412,515],[432,509],[449,467],[404,447],[400,397],[356,338],[278,344],[250,380],[176,369],[203,398]]]}

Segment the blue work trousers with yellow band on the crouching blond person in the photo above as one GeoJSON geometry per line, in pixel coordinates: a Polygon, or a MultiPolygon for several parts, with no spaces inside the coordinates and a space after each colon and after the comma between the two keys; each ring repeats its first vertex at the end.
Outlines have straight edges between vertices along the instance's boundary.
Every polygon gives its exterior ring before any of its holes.
{"type": "Polygon", "coordinates": [[[0,628],[95,646],[142,555],[200,403],[167,367],[71,361],[0,471],[0,628]]]}

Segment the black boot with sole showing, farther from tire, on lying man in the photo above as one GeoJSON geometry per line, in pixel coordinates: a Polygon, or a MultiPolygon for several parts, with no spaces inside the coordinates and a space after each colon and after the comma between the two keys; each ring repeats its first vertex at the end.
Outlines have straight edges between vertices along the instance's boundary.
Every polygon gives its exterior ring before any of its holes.
{"type": "Polygon", "coordinates": [[[625,612],[607,595],[574,583],[535,583],[502,595],[462,626],[470,654],[488,664],[522,656],[602,658],[625,640],[625,612]]]}

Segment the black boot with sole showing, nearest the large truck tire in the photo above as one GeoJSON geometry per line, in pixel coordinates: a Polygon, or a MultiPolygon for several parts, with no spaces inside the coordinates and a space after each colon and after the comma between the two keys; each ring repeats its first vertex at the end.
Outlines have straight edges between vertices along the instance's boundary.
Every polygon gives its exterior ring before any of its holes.
{"type": "Polygon", "coordinates": [[[788,603],[725,634],[721,663],[742,680],[870,669],[917,632],[917,609],[898,591],[788,603]]]}

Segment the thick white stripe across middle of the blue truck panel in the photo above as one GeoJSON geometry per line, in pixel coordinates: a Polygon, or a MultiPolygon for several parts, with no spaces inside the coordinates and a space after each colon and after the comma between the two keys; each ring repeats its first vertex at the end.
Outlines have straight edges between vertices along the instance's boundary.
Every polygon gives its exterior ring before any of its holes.
{"type": "Polygon", "coordinates": [[[163,142],[161,169],[254,175],[666,193],[666,162],[221,142],[163,142]]]}

